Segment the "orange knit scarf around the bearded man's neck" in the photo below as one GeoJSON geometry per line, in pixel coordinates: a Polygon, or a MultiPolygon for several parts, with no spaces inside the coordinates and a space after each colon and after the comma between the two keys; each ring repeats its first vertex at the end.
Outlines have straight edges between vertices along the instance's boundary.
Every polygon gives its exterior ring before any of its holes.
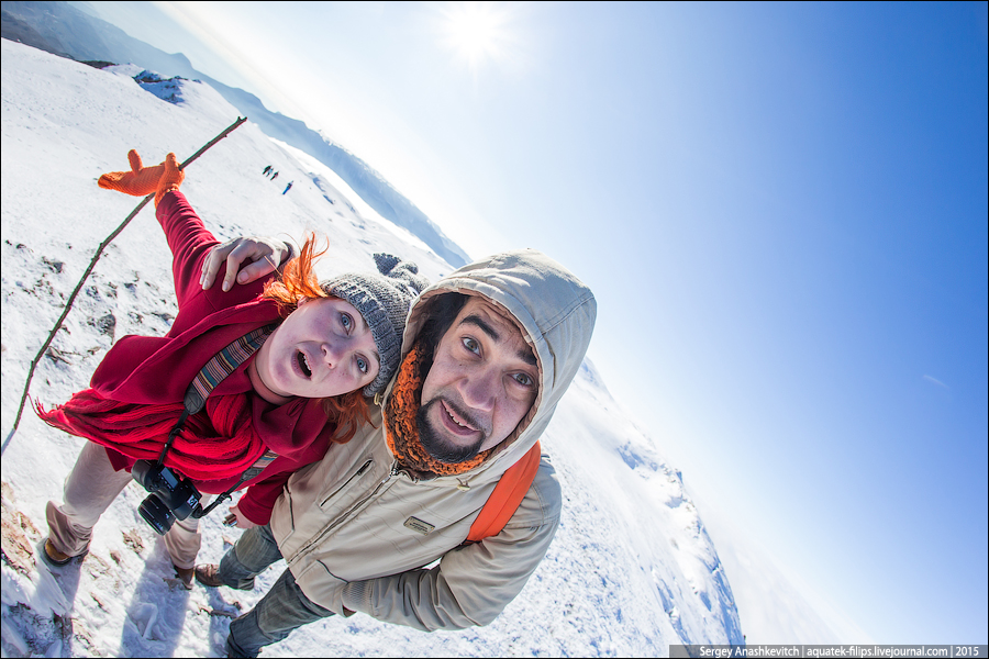
{"type": "Polygon", "coordinates": [[[398,378],[385,407],[386,436],[388,447],[400,462],[415,471],[438,476],[464,473],[481,465],[492,449],[481,451],[464,462],[441,462],[431,456],[419,440],[415,413],[422,404],[422,378],[420,377],[421,354],[419,344],[412,346],[402,360],[398,378]]]}

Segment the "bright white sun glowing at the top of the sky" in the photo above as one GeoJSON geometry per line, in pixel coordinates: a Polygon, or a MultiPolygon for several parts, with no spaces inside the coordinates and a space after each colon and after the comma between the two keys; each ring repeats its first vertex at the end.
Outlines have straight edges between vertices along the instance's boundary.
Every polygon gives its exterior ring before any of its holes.
{"type": "Polygon", "coordinates": [[[477,70],[485,62],[504,57],[509,43],[508,9],[497,2],[456,2],[443,12],[447,44],[477,70]]]}

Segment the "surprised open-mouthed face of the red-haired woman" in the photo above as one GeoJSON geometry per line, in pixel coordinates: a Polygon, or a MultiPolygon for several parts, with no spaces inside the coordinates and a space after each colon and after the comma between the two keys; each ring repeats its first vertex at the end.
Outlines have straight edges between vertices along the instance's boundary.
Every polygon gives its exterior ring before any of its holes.
{"type": "MultiPolygon", "coordinates": [[[[349,302],[303,298],[258,350],[264,389],[281,398],[326,398],[356,391],[378,375],[370,328],[349,302]]],[[[270,399],[268,399],[270,400],[270,399]]]]}

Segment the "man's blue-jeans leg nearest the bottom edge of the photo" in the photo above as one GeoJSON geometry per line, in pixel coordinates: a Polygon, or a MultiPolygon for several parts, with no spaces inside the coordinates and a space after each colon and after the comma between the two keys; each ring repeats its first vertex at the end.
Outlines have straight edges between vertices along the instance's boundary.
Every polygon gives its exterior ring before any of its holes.
{"type": "Polygon", "coordinates": [[[278,643],[307,623],[333,612],[310,601],[292,572],[286,569],[257,605],[230,624],[227,657],[257,657],[266,645],[278,643]]]}

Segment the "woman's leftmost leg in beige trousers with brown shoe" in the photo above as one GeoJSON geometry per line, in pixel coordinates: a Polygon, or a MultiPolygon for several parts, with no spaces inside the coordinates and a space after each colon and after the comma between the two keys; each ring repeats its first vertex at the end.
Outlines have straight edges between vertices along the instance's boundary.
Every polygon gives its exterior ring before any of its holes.
{"type": "Polygon", "coordinates": [[[113,470],[105,448],[87,442],[65,479],[65,503],[49,501],[45,510],[48,539],[55,549],[66,556],[85,554],[92,527],[130,481],[125,470],[113,470]]]}

